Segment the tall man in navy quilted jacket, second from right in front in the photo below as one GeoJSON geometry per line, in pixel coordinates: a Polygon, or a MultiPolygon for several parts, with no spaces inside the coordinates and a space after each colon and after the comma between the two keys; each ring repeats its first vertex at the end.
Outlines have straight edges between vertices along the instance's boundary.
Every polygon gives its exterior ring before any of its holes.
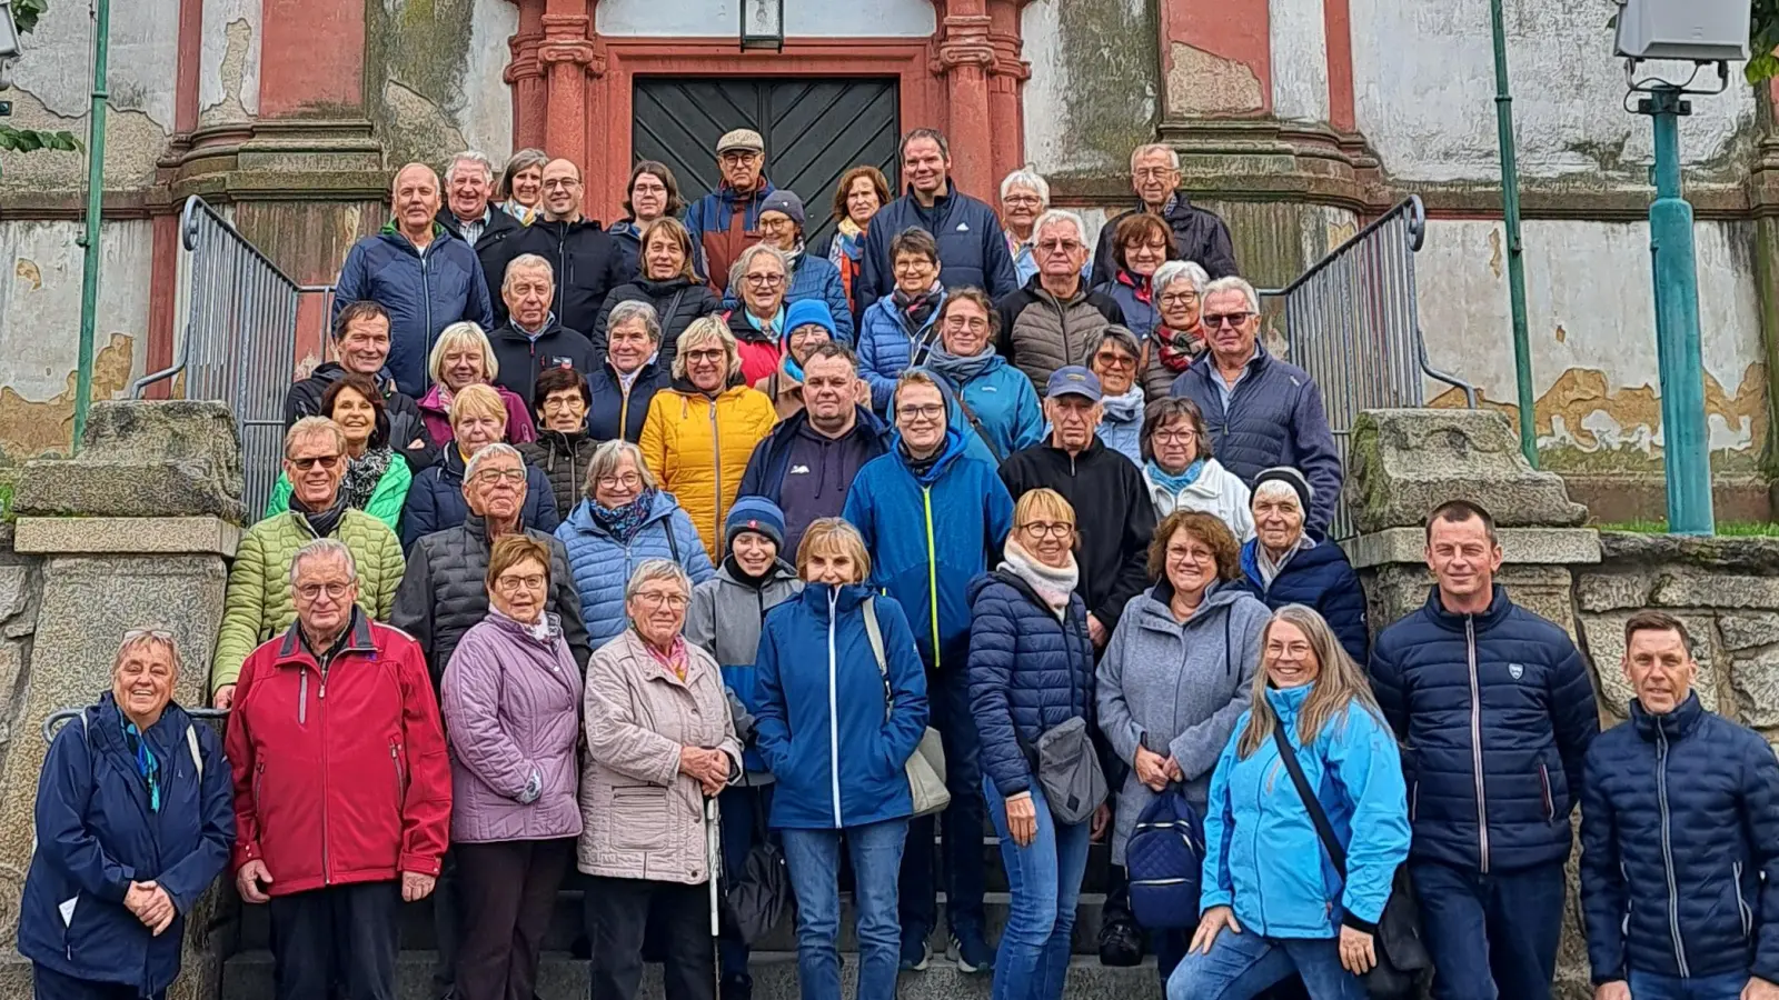
{"type": "Polygon", "coordinates": [[[1404,744],[1434,1000],[1550,1000],[1594,683],[1569,633],[1494,582],[1487,511],[1434,509],[1427,566],[1437,585],[1377,637],[1372,689],[1404,744]]]}

